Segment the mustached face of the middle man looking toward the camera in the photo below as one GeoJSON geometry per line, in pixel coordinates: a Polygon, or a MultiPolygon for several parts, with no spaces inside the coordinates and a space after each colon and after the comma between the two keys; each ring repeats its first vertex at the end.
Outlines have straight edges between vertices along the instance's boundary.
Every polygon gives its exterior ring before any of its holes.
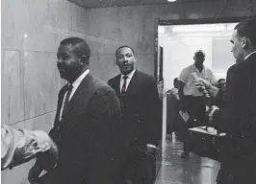
{"type": "Polygon", "coordinates": [[[124,47],[119,49],[116,55],[116,65],[123,75],[130,74],[134,70],[135,62],[136,58],[130,48],[124,47]]]}

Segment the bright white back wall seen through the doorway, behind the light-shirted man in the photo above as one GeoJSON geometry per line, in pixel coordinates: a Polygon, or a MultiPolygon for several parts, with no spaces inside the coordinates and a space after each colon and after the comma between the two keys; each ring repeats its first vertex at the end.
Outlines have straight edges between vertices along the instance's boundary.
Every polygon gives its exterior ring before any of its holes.
{"type": "Polygon", "coordinates": [[[165,90],[173,87],[183,68],[192,63],[193,54],[203,50],[204,64],[213,70],[217,80],[226,78],[227,69],[235,63],[230,38],[237,23],[160,26],[160,46],[164,50],[165,90]],[[182,49],[181,49],[182,48],[182,49]]]}

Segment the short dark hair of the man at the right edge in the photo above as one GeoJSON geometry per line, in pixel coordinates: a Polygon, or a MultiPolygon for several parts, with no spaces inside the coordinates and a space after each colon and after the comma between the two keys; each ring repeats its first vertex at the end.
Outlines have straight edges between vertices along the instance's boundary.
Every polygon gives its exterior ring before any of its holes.
{"type": "Polygon", "coordinates": [[[243,20],[234,30],[237,30],[240,37],[248,38],[252,46],[256,46],[256,18],[243,20]]]}

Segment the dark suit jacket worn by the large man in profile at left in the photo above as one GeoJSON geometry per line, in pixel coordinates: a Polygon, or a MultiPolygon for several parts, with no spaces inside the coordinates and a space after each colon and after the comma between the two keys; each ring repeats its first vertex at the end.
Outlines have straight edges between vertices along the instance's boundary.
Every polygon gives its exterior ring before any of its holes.
{"type": "Polygon", "coordinates": [[[121,112],[115,91],[90,74],[81,82],[59,122],[65,85],[50,135],[60,153],[66,183],[115,184],[119,176],[121,112]]]}

